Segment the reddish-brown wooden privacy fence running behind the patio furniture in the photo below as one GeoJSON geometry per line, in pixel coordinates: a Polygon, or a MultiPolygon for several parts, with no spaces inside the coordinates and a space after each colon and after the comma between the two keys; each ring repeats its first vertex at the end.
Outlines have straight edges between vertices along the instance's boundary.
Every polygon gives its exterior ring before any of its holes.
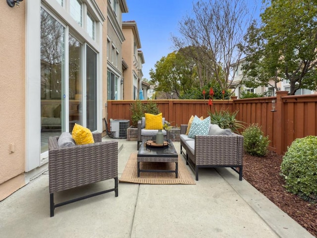
{"type": "MultiPolygon", "coordinates": [[[[248,126],[258,123],[264,135],[268,135],[269,149],[281,155],[287,151],[294,139],[307,135],[317,135],[317,94],[288,96],[287,91],[277,92],[276,97],[213,100],[211,111],[228,110],[237,113],[237,120],[248,126]],[[272,100],[276,101],[275,112],[272,100]]],[[[147,100],[141,100],[147,103],[147,100]]],[[[135,101],[107,102],[107,122],[109,119],[129,119],[131,122],[130,104],[135,101]]],[[[171,125],[187,124],[192,115],[208,116],[208,100],[153,100],[171,125]]]]}

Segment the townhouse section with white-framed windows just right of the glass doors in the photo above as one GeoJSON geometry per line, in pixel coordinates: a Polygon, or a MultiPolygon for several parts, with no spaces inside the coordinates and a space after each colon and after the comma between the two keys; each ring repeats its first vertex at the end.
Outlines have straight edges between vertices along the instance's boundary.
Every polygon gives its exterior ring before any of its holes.
{"type": "Polygon", "coordinates": [[[108,0],[107,7],[107,99],[123,99],[122,13],[128,12],[125,0],[108,0]],[[121,83],[122,81],[122,83],[121,83]]]}

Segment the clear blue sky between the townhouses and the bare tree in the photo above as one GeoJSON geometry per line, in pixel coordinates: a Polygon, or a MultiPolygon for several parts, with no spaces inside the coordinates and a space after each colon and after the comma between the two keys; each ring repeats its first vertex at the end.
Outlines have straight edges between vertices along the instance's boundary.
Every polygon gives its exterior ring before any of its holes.
{"type": "MultiPolygon", "coordinates": [[[[248,0],[249,2],[254,0],[248,0]]],[[[135,20],[144,55],[143,78],[150,80],[150,69],[163,56],[174,51],[171,33],[179,35],[178,24],[192,12],[192,0],[126,0],[128,13],[123,21],[135,20]]],[[[196,1],[195,1],[196,2],[196,1]]]]}

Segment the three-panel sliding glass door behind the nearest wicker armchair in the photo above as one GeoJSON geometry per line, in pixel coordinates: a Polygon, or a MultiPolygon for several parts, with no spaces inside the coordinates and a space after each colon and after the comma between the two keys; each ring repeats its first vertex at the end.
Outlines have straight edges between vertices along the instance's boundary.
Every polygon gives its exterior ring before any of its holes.
{"type": "Polygon", "coordinates": [[[97,53],[67,29],[41,8],[41,152],[75,123],[97,130],[97,53]]]}

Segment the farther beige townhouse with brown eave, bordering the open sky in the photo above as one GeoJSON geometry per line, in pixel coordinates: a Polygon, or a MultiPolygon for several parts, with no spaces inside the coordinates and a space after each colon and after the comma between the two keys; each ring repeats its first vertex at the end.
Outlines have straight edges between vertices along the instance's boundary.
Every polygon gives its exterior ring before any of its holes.
{"type": "Polygon", "coordinates": [[[143,76],[142,63],[144,62],[142,52],[139,55],[138,51],[141,48],[141,41],[137,23],[135,21],[122,22],[122,31],[125,38],[122,44],[122,57],[128,65],[128,68],[124,71],[123,98],[124,100],[136,100],[139,98],[143,76]]]}

